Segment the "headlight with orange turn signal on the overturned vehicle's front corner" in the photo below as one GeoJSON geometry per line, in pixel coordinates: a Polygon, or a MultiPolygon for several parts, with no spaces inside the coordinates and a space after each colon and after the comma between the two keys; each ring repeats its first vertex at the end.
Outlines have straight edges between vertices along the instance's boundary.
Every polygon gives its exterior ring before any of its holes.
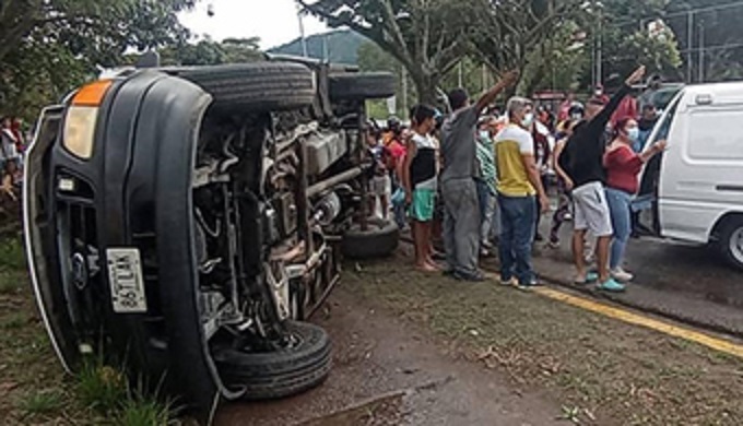
{"type": "Polygon", "coordinates": [[[80,158],[87,159],[93,155],[98,110],[110,85],[110,80],[101,80],[83,86],[67,110],[62,144],[80,158]]]}

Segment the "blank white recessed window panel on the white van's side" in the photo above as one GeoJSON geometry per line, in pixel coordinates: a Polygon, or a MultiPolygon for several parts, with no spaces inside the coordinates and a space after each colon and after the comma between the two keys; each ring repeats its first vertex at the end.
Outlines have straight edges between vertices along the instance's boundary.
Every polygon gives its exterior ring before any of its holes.
{"type": "Polygon", "coordinates": [[[701,109],[691,118],[692,158],[743,159],[743,109],[701,109]]]}

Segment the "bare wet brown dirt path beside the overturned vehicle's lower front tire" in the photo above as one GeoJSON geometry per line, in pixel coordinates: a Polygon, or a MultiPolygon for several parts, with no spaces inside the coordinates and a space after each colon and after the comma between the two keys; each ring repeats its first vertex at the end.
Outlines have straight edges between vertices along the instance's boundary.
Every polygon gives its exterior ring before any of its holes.
{"type": "Polygon", "coordinates": [[[429,330],[364,297],[354,284],[341,282],[312,321],[333,342],[325,384],[286,400],[227,404],[217,425],[569,424],[557,419],[562,407],[544,392],[461,359],[429,330]]]}

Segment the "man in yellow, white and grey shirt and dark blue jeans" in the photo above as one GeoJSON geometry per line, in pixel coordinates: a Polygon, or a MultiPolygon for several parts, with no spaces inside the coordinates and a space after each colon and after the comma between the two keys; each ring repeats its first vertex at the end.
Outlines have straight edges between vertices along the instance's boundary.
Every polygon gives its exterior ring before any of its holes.
{"type": "Polygon", "coordinates": [[[526,129],[534,121],[531,100],[508,100],[509,125],[495,138],[498,170],[498,205],[500,206],[500,284],[530,288],[538,285],[531,265],[538,204],[550,210],[534,162],[534,141],[526,129]]]}

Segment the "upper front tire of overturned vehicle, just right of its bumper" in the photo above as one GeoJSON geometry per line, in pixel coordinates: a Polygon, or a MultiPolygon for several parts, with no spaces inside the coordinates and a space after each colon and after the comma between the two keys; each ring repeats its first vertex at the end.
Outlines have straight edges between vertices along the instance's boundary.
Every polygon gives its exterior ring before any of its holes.
{"type": "Polygon", "coordinates": [[[184,69],[177,74],[212,95],[214,107],[247,110],[295,109],[312,105],[312,71],[300,63],[256,62],[184,69]]]}

